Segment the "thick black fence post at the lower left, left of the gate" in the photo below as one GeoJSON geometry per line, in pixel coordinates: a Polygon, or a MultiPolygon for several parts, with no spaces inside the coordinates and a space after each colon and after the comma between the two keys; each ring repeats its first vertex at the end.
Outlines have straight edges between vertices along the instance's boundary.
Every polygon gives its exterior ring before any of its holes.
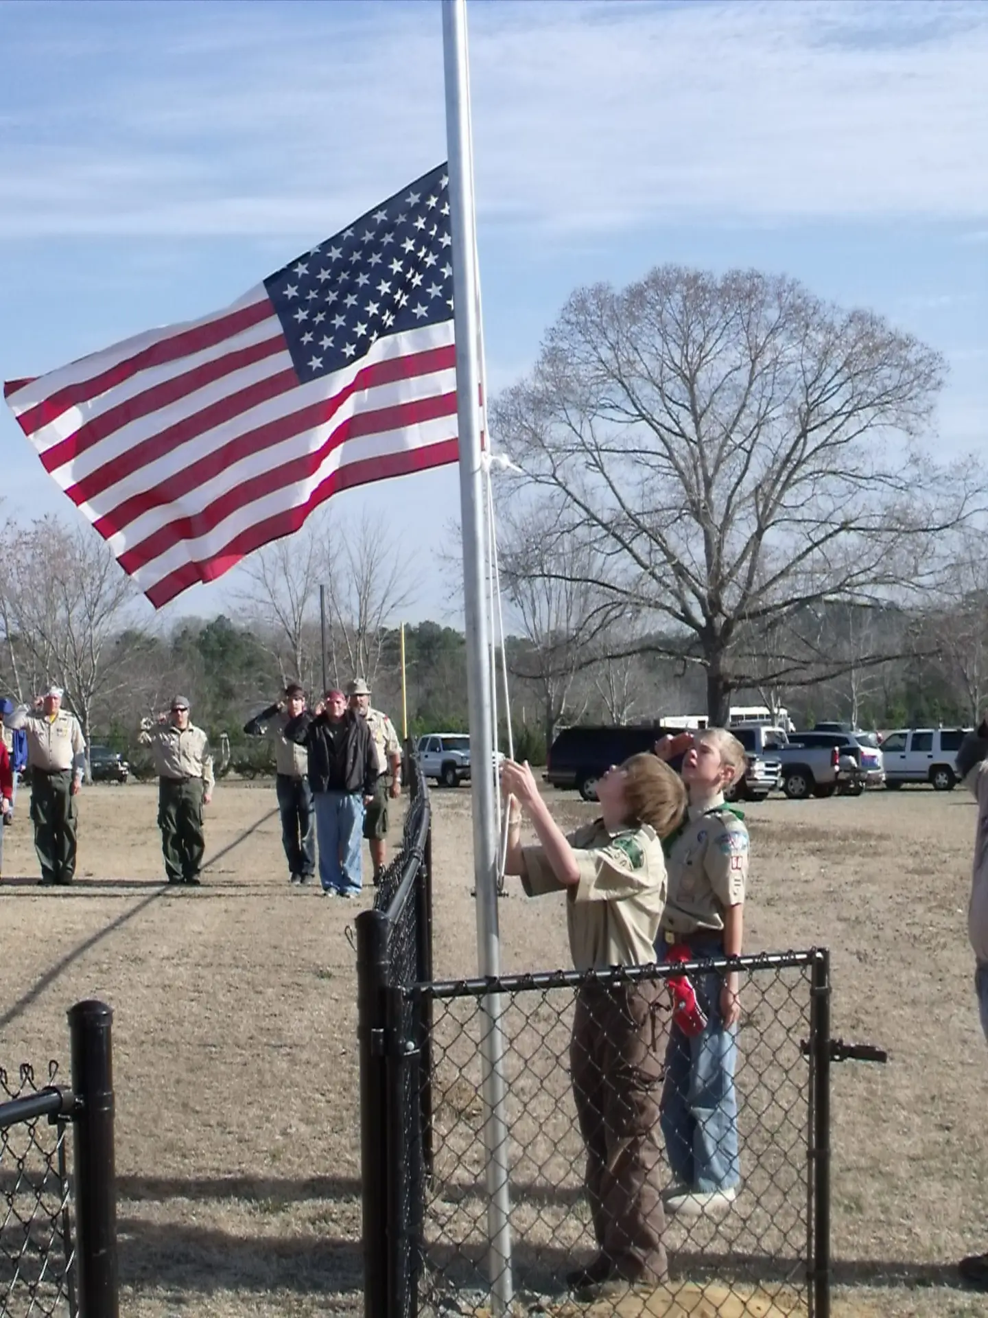
{"type": "Polygon", "coordinates": [[[69,1011],[75,1152],[75,1238],[80,1318],[117,1318],[117,1203],[113,1162],[113,1012],[104,1002],[69,1011]]]}

